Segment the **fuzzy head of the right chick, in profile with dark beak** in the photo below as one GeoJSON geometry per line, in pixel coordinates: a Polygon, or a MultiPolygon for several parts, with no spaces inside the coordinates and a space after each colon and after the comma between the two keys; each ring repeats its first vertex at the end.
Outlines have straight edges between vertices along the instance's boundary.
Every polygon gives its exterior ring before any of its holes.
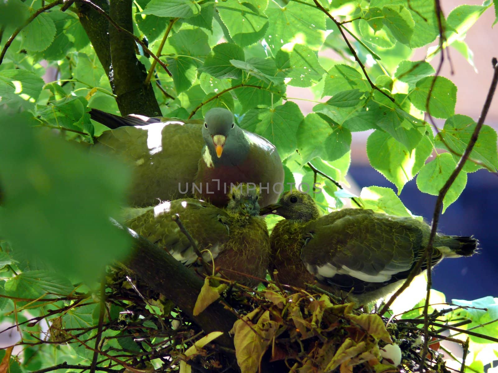
{"type": "Polygon", "coordinates": [[[276,214],[298,221],[309,221],[320,217],[320,211],[311,195],[299,190],[284,192],[277,203],[264,207],[260,213],[276,214]]]}

